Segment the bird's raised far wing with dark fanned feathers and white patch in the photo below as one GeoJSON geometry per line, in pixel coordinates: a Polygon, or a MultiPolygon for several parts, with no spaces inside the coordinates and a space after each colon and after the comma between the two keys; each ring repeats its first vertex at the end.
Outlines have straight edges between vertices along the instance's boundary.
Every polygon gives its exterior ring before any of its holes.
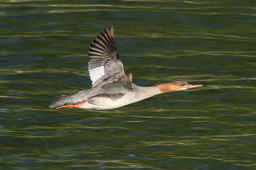
{"type": "Polygon", "coordinates": [[[118,55],[114,27],[104,29],[89,48],[89,72],[92,87],[112,83],[125,76],[123,63],[118,55]]]}

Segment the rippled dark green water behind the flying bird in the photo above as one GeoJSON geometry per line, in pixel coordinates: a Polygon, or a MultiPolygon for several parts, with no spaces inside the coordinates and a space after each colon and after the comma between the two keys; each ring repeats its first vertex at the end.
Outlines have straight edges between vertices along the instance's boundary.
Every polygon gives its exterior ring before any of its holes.
{"type": "Polygon", "coordinates": [[[0,169],[255,169],[255,1],[1,1],[0,169]],[[50,109],[89,89],[114,25],[137,85],[203,87],[112,110],[50,109]]]}

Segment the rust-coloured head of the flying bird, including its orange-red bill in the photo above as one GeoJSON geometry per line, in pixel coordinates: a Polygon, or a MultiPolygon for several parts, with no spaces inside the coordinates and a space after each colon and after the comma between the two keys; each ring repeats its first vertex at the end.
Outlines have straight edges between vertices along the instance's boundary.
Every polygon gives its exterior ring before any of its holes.
{"type": "Polygon", "coordinates": [[[203,85],[191,85],[184,81],[174,81],[170,83],[165,84],[158,84],[156,87],[159,88],[161,93],[166,93],[170,91],[178,91],[178,90],[185,90],[188,88],[194,88],[194,87],[201,87],[203,85]]]}

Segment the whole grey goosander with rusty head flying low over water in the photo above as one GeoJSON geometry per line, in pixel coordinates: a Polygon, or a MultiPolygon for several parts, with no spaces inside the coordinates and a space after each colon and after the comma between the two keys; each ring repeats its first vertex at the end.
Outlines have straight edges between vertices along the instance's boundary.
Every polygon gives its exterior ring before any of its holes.
{"type": "Polygon", "coordinates": [[[132,74],[124,73],[123,63],[115,45],[113,25],[111,29],[104,29],[96,40],[92,41],[88,57],[92,88],[74,95],[58,96],[50,108],[114,109],[157,94],[202,86],[184,81],[151,87],[133,84],[132,74]]]}

